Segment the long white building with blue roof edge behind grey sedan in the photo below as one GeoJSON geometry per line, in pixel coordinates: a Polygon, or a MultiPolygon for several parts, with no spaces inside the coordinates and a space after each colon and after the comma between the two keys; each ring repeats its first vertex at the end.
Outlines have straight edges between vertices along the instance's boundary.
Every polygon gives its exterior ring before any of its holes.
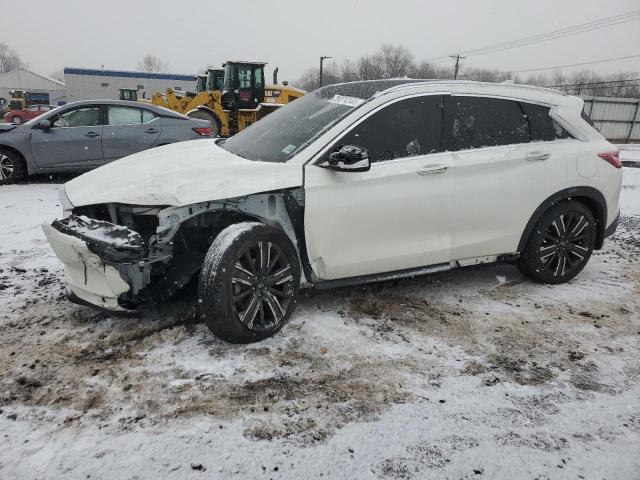
{"type": "Polygon", "coordinates": [[[120,98],[120,90],[137,90],[138,99],[151,98],[155,92],[165,92],[167,88],[176,91],[194,92],[195,75],[174,73],[128,72],[120,70],[100,70],[88,68],[65,68],[64,80],[67,85],[67,101],[120,98]]]}

